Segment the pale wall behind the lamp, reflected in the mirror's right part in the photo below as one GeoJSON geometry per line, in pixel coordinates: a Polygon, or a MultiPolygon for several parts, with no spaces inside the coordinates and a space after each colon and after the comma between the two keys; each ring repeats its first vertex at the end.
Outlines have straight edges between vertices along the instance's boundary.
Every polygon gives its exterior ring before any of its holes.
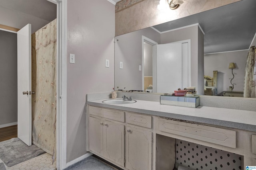
{"type": "Polygon", "coordinates": [[[245,64],[248,51],[233,51],[204,55],[204,75],[213,77],[214,70],[218,71],[218,93],[229,90],[230,80],[233,77],[229,63],[235,63],[235,75],[232,83],[234,91],[244,91],[245,64]]]}

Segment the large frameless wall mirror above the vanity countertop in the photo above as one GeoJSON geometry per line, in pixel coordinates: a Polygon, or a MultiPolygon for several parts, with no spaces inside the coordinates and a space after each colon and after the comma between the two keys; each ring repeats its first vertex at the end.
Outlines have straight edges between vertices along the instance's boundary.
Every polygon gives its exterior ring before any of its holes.
{"type": "Polygon", "coordinates": [[[196,86],[198,94],[222,96],[233,84],[232,92],[242,92],[248,49],[256,45],[255,6],[255,0],[242,0],[115,37],[115,90],[162,93],[196,86]],[[158,65],[156,46],[163,44],[175,44],[166,47],[175,53],[161,53],[158,65]],[[170,89],[158,90],[162,83],[170,89]]]}

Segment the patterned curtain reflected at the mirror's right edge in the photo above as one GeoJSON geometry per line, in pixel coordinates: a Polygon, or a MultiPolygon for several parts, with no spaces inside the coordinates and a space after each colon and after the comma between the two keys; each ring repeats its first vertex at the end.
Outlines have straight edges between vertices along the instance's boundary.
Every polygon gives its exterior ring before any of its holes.
{"type": "Polygon", "coordinates": [[[244,98],[255,98],[256,92],[256,53],[255,46],[250,48],[247,55],[244,76],[244,98]]]}

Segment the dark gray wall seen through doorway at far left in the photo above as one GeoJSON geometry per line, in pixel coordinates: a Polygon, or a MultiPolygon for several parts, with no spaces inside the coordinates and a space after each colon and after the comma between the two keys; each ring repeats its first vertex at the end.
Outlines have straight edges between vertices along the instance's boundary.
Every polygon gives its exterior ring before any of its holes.
{"type": "Polygon", "coordinates": [[[0,30],[0,125],[17,122],[17,34],[0,30]]]}

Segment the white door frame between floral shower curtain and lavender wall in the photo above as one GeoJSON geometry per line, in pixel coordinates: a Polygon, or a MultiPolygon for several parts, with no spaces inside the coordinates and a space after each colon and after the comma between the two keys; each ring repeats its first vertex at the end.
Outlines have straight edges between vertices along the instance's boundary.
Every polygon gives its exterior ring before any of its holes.
{"type": "Polygon", "coordinates": [[[67,0],[48,0],[57,4],[57,106],[56,106],[56,168],[66,168],[67,115],[67,0]]]}

